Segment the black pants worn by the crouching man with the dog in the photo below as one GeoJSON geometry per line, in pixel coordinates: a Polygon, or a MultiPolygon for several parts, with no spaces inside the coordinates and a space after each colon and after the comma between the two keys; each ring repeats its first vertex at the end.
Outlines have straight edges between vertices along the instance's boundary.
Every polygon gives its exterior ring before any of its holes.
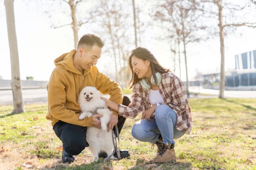
{"type": "MultiPolygon", "coordinates": [[[[123,105],[128,106],[130,104],[130,99],[126,96],[123,96],[123,105]]],[[[123,128],[123,124],[126,121],[126,118],[123,116],[118,116],[118,131],[119,134],[123,128]]],[[[86,131],[87,128],[83,126],[73,125],[63,121],[58,121],[54,124],[53,130],[55,134],[63,143],[63,149],[69,155],[78,155],[80,154],[85,147],[88,147],[89,144],[86,141],[86,131]]],[[[116,129],[113,128],[114,133],[116,129]]]]}

